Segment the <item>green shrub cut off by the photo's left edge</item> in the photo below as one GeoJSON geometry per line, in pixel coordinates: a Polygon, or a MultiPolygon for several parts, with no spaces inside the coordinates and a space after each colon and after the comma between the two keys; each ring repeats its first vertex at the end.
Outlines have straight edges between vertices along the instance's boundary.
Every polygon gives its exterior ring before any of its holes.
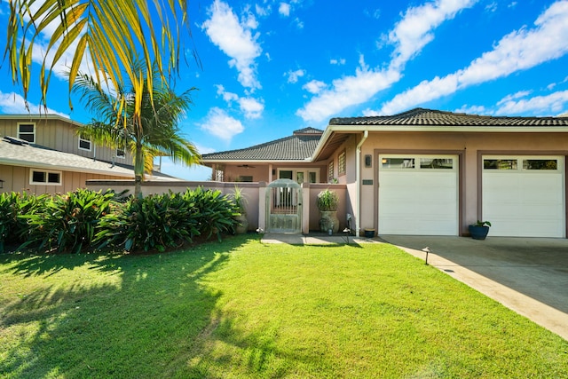
{"type": "Polygon", "coordinates": [[[0,193],[0,253],[4,252],[6,242],[20,244],[28,238],[30,226],[21,216],[43,209],[46,198],[25,192],[0,193]]]}

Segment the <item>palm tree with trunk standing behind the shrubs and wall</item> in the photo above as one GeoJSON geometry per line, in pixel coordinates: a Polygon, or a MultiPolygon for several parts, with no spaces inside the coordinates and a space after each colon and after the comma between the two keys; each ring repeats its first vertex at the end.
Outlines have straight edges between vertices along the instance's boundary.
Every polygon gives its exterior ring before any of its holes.
{"type": "MultiPolygon", "coordinates": [[[[155,80],[156,75],[154,75],[155,80]]],[[[140,113],[136,115],[132,85],[115,95],[104,91],[90,75],[78,75],[73,91],[97,119],[83,125],[79,133],[106,146],[127,148],[133,153],[135,196],[141,194],[144,172],[150,172],[155,156],[169,156],[173,162],[192,165],[201,159],[195,146],[180,135],[177,122],[189,110],[194,88],[177,95],[168,86],[153,83],[152,91],[144,85],[140,113]],[[115,107],[117,98],[124,107],[115,107]]]]}

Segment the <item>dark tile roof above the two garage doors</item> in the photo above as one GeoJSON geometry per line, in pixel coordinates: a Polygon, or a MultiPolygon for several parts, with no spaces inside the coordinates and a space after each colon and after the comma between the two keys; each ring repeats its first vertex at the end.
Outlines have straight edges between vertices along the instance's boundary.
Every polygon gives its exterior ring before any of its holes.
{"type": "Polygon", "coordinates": [[[568,117],[497,117],[414,108],[401,114],[332,118],[330,125],[568,126],[568,117]]]}

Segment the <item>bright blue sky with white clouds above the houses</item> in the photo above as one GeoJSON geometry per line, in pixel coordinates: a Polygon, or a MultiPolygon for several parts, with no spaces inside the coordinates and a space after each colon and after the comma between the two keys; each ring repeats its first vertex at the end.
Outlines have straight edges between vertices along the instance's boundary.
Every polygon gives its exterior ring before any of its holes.
{"type": "MultiPolygon", "coordinates": [[[[0,3],[0,24],[8,2],[0,3]]],[[[189,1],[193,39],[177,91],[196,87],[181,127],[202,154],[325,129],[332,117],[414,107],[493,115],[568,112],[568,1],[189,1]],[[199,54],[195,64],[191,51],[199,54]]],[[[5,41],[5,30],[0,30],[5,41]]],[[[36,59],[41,59],[40,53],[36,59]]],[[[37,68],[36,68],[37,69],[37,68]]],[[[0,113],[25,113],[0,68],[0,113]]],[[[30,94],[32,112],[39,97],[30,94]]],[[[53,113],[89,122],[67,83],[53,113]]],[[[209,170],[163,170],[206,179],[209,170]]]]}

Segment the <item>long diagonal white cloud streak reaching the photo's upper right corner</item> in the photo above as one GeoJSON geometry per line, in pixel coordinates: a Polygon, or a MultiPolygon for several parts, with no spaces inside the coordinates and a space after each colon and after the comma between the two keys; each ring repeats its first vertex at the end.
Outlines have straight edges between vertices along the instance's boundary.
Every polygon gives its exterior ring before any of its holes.
{"type": "Polygon", "coordinates": [[[385,103],[379,114],[393,114],[409,107],[438,99],[479,83],[556,59],[568,52],[568,2],[552,4],[534,22],[535,28],[521,28],[501,38],[492,51],[469,64],[469,67],[398,94],[385,103]]]}

